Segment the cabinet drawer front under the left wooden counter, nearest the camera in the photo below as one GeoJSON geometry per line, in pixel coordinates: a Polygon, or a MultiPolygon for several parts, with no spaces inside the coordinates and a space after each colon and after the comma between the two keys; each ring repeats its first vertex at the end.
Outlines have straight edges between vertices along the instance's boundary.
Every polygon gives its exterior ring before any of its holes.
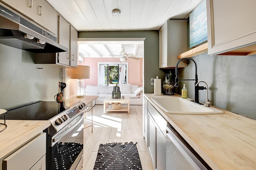
{"type": "Polygon", "coordinates": [[[5,158],[3,170],[29,170],[44,154],[46,154],[46,133],[40,134],[5,158]]]}

